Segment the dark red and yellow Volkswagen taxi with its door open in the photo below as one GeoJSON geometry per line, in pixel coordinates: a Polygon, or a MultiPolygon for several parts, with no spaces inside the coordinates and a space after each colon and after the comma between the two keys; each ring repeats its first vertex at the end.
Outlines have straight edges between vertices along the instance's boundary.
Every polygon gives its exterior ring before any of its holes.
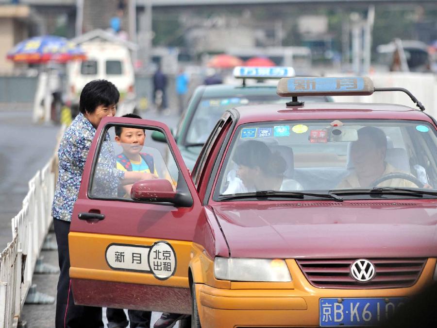
{"type": "Polygon", "coordinates": [[[101,121],[69,233],[75,303],[203,328],[371,326],[436,282],[436,121],[412,95],[420,109],[299,100],[393,91],[369,78],[277,91],[289,102],[227,110],[191,173],[165,124],[101,121]],[[129,194],[102,156],[123,152],[116,127],[145,131],[158,176],[129,194]]]}

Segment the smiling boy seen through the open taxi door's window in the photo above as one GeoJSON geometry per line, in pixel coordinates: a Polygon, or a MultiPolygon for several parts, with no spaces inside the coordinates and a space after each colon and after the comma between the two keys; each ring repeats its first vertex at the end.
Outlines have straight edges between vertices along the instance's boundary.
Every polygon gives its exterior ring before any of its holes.
{"type": "MultiPolygon", "coordinates": [[[[126,114],[122,117],[141,119],[135,114],[126,114]]],[[[152,155],[142,153],[144,141],[146,139],[145,131],[130,127],[115,127],[115,140],[123,148],[123,152],[117,155],[117,169],[122,171],[138,171],[150,173],[151,178],[156,178],[157,173],[152,155]]],[[[131,194],[132,185],[122,186],[126,195],[131,194]]]]}

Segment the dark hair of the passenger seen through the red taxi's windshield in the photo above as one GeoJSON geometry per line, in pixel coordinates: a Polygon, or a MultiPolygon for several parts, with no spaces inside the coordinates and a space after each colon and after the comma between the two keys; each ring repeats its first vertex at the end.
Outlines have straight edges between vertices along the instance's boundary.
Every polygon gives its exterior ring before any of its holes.
{"type": "Polygon", "coordinates": [[[257,140],[240,143],[235,150],[234,161],[250,168],[259,167],[269,176],[282,175],[287,168],[286,161],[279,152],[271,152],[264,142],[257,140]]]}

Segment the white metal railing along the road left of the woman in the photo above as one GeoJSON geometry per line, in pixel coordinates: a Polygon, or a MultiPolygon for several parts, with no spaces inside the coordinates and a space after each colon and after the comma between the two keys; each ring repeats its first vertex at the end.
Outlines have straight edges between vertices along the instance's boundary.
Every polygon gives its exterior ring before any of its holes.
{"type": "MultiPolygon", "coordinates": [[[[64,132],[61,129],[58,136],[64,132]]],[[[50,210],[55,188],[57,155],[29,181],[23,207],[12,219],[13,240],[0,254],[0,328],[16,327],[27,293],[32,286],[44,240],[52,222],[50,210]]]]}

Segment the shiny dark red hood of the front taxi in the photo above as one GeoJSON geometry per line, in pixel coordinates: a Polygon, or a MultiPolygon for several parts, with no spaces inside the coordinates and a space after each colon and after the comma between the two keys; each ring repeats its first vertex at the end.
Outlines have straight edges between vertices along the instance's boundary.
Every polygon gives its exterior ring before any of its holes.
{"type": "Polygon", "coordinates": [[[214,206],[235,258],[437,254],[437,201],[232,202],[214,206]]]}

